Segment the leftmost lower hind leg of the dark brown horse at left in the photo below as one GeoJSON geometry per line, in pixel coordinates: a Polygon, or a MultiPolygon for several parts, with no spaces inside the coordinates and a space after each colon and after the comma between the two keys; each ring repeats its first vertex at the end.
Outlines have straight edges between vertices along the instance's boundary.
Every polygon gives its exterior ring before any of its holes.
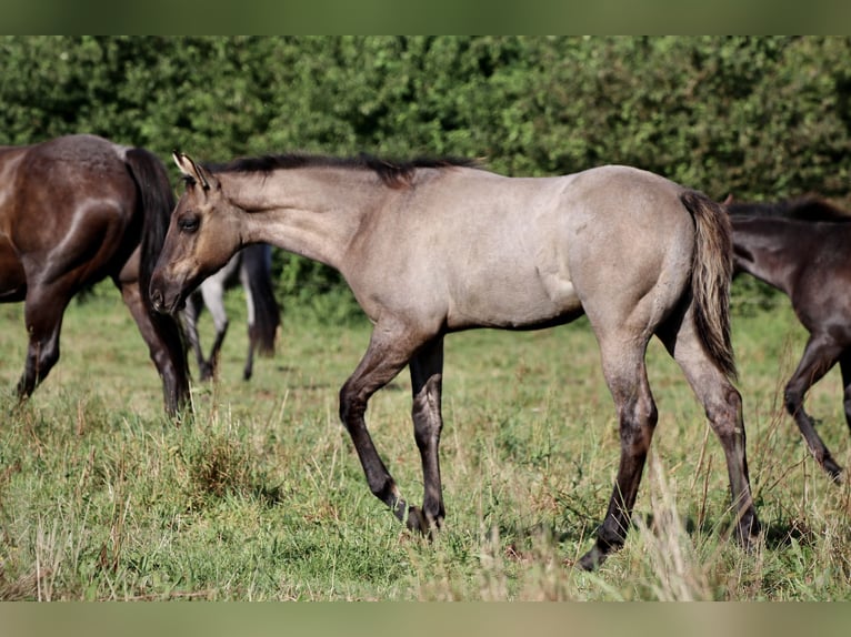
{"type": "Polygon", "coordinates": [[[17,393],[24,400],[47,378],[59,361],[59,335],[62,315],[71,295],[56,287],[32,286],[24,301],[24,324],[29,334],[23,374],[17,393]]]}

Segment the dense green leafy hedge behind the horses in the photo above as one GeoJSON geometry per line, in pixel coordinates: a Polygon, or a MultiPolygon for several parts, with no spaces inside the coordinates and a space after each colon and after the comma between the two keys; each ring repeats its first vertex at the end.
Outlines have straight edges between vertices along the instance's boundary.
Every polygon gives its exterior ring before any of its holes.
{"type": "MultiPolygon", "coordinates": [[[[847,204],[850,53],[848,38],[3,37],[0,143],[86,131],[163,159],[451,154],[524,175],[617,162],[719,199],[847,204]]],[[[282,296],[339,294],[336,273],[288,264],[282,296]]]]}

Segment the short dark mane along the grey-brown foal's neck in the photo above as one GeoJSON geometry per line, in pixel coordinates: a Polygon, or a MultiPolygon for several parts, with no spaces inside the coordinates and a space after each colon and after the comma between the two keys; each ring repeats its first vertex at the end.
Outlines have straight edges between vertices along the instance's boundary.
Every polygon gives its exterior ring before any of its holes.
{"type": "Polygon", "coordinates": [[[290,153],[280,155],[262,155],[256,158],[241,158],[227,164],[208,165],[212,172],[262,172],[270,173],[276,170],[291,170],[298,168],[343,168],[351,170],[371,170],[390,188],[403,188],[410,185],[417,169],[447,169],[447,168],[480,168],[475,160],[459,158],[418,158],[411,161],[398,162],[386,160],[369,154],[359,154],[353,158],[334,158],[327,155],[311,155],[303,153],[290,153]]]}

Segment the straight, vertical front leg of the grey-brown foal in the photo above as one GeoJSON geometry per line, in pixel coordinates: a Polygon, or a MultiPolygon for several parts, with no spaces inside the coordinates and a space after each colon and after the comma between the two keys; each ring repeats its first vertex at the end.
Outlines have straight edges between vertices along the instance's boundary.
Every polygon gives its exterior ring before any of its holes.
{"type": "Polygon", "coordinates": [[[443,385],[443,336],[427,343],[411,358],[411,390],[413,393],[413,435],[422,458],[424,495],[421,527],[440,528],[445,509],[440,484],[441,388],[443,385]]]}

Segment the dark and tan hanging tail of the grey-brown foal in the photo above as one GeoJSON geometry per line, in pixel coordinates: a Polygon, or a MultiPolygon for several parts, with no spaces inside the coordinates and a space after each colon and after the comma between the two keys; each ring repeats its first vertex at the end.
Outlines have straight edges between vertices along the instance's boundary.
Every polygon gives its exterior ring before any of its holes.
{"type": "Polygon", "coordinates": [[[735,378],[730,340],[732,230],[724,210],[707,195],[685,191],[680,201],[694,219],[694,261],[691,272],[694,323],[707,353],[728,378],[735,378]]]}

